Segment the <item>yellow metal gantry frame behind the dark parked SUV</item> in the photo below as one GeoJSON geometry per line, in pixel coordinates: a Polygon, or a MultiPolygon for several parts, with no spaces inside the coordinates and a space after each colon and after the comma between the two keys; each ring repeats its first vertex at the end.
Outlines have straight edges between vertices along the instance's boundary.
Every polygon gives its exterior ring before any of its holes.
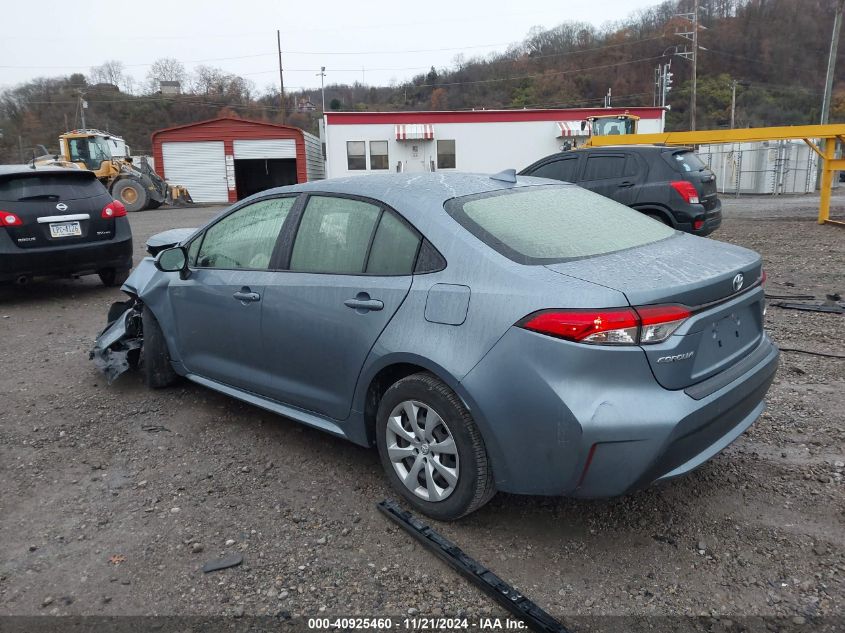
{"type": "Polygon", "coordinates": [[[697,130],[695,132],[662,132],[660,134],[624,134],[621,136],[593,136],[586,147],[614,145],[709,145],[715,143],[750,143],[754,141],[785,141],[801,139],[810,146],[822,161],[821,196],[819,198],[819,224],[845,222],[830,219],[830,193],[833,173],[845,170],[845,159],[836,158],[836,141],[845,144],[845,124],[796,125],[783,127],[757,127],[742,130],[697,130]],[[821,141],[822,148],[816,144],[821,141]]]}

